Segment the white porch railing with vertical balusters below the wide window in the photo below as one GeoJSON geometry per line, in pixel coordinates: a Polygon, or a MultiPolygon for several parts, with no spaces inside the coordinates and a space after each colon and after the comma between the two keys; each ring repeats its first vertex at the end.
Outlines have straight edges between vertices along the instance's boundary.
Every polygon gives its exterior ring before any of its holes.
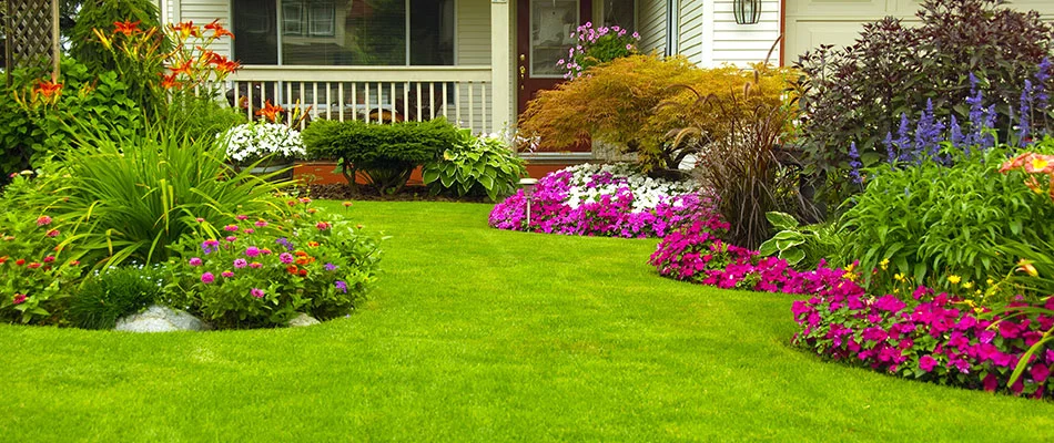
{"type": "Polygon", "coordinates": [[[490,66],[245,66],[229,78],[227,100],[252,119],[267,101],[311,119],[374,123],[445,116],[495,132],[490,66]]]}

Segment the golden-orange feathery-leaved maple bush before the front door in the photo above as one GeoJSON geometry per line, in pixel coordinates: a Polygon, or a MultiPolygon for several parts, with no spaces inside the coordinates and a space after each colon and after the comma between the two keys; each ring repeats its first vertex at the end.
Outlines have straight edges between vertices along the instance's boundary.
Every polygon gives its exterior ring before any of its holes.
{"type": "Polygon", "coordinates": [[[739,106],[692,106],[698,96],[727,97],[753,79],[762,102],[781,103],[787,70],[768,69],[754,79],[734,66],[700,69],[683,58],[631,55],[595,66],[588,76],[543,91],[520,119],[520,131],[541,146],[596,141],[635,153],[645,171],[677,168],[692,144],[672,144],[669,133],[697,126],[719,138],[728,120],[748,110],[739,106]],[[696,93],[675,85],[690,86],[696,93]],[[680,106],[660,103],[670,102],[680,106]]]}

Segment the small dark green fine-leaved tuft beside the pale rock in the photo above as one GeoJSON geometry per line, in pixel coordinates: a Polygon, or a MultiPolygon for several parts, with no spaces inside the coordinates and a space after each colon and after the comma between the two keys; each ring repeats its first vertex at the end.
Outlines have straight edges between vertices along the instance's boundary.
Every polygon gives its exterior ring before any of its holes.
{"type": "Polygon", "coordinates": [[[67,318],[78,328],[113,329],[119,318],[158,301],[163,286],[162,272],[156,268],[108,268],[85,279],[70,299],[67,318]]]}

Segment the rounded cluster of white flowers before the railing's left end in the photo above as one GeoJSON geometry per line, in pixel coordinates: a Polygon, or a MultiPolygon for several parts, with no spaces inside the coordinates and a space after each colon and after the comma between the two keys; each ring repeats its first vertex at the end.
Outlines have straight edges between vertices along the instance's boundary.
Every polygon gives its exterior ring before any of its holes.
{"type": "Polygon", "coordinates": [[[277,123],[246,123],[217,136],[226,143],[227,158],[237,164],[252,163],[272,154],[291,159],[307,153],[300,131],[277,123]]]}

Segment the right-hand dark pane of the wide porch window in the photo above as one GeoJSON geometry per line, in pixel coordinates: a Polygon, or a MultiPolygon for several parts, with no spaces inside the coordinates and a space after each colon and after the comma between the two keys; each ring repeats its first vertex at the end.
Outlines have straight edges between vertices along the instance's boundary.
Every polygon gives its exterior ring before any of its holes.
{"type": "Polygon", "coordinates": [[[454,64],[454,0],[411,0],[409,64],[454,64]]]}

